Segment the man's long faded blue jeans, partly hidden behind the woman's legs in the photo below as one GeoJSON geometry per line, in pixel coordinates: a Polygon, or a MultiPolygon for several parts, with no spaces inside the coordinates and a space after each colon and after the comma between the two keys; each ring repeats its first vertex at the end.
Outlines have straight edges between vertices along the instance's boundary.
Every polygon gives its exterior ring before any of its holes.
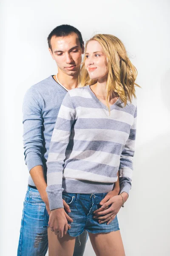
{"type": "MultiPolygon", "coordinates": [[[[23,205],[17,256],[45,256],[48,250],[48,219],[49,215],[40,193],[37,189],[28,187],[23,205]]],[[[74,256],[83,255],[87,239],[87,232],[77,236],[74,256]]]]}

